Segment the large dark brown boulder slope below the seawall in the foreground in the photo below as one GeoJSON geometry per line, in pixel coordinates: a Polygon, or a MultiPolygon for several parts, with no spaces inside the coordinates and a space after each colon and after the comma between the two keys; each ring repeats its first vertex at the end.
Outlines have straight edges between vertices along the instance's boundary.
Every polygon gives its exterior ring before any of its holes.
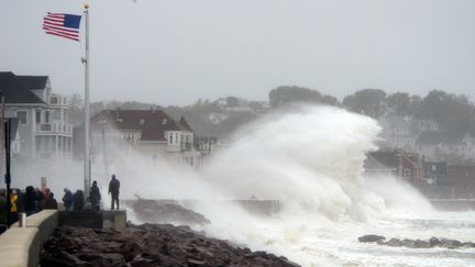
{"type": "Polygon", "coordinates": [[[41,266],[298,266],[283,256],[206,237],[188,226],[63,226],[46,243],[41,266]]]}

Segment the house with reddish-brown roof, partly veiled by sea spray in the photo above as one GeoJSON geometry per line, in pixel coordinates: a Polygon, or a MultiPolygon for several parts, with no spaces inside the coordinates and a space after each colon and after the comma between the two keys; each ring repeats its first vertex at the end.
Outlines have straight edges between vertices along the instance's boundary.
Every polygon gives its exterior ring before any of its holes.
{"type": "Polygon", "coordinates": [[[152,159],[165,156],[189,166],[201,164],[194,131],[186,120],[175,121],[162,110],[102,110],[91,118],[91,136],[92,154],[113,144],[152,159]]]}

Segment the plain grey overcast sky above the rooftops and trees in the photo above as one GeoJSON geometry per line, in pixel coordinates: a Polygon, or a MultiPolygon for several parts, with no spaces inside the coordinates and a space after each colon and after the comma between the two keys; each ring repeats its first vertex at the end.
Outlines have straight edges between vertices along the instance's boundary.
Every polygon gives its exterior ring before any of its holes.
{"type": "MultiPolygon", "coordinates": [[[[84,94],[81,45],[46,12],[84,1],[0,0],[0,70],[84,94]]],[[[382,88],[475,97],[473,0],[90,0],[91,99],[163,105],[297,85],[342,98],[382,88]]]]}

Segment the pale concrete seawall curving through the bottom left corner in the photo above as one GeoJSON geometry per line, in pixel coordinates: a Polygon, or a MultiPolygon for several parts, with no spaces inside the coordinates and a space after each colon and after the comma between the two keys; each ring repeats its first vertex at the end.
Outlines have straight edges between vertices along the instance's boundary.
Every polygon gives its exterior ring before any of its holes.
{"type": "Polygon", "coordinates": [[[0,235],[0,267],[38,266],[40,252],[58,225],[58,211],[44,210],[18,223],[0,235]]]}

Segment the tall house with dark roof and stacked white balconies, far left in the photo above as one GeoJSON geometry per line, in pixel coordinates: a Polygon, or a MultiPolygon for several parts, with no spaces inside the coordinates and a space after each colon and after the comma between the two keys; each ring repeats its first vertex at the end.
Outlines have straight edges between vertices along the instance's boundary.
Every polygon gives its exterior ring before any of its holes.
{"type": "Polygon", "coordinates": [[[12,144],[16,157],[26,159],[70,159],[73,126],[68,102],[52,92],[47,76],[16,76],[0,73],[0,90],[5,113],[18,119],[12,144]]]}

